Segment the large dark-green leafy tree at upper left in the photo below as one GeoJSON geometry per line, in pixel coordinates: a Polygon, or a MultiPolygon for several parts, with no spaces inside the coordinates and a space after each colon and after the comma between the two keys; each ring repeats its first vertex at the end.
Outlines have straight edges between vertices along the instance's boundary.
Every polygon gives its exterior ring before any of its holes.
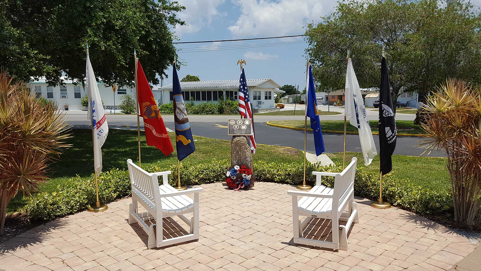
{"type": "Polygon", "coordinates": [[[152,84],[176,57],[169,27],[184,9],[170,0],[39,0],[0,2],[0,67],[19,81],[63,73],[83,83],[89,43],[95,75],[106,85],[132,86],[134,49],[152,84]]]}

